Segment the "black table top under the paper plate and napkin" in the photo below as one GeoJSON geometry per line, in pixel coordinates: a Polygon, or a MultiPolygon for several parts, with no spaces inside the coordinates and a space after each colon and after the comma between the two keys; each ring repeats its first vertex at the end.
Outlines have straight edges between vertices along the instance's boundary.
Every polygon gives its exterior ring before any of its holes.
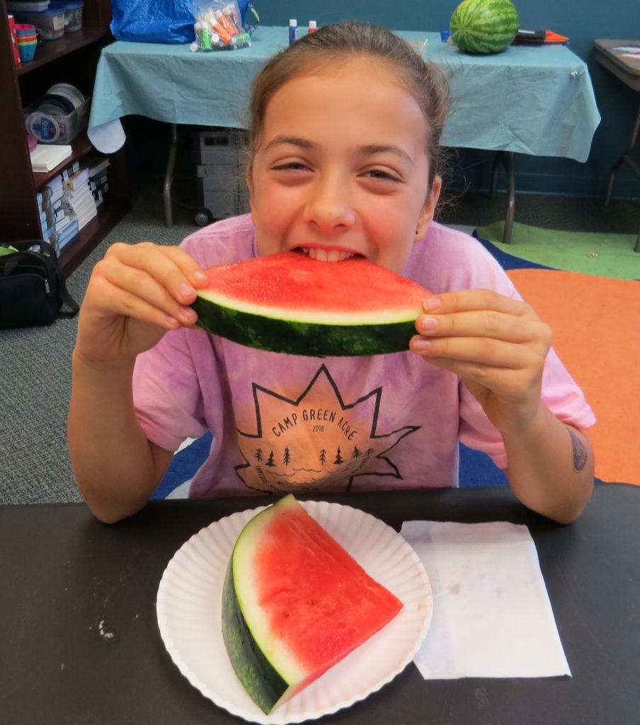
{"type": "MultiPolygon", "coordinates": [[[[396,530],[409,519],[527,524],[573,673],[425,682],[410,664],[379,692],[323,722],[638,722],[640,487],[597,486],[570,526],[529,512],[507,487],[320,498],[366,510],[396,530]]],[[[80,504],[0,507],[0,721],[241,722],[180,674],[160,638],[155,601],[162,572],[183,542],[218,518],[265,502],[156,502],[115,526],[80,504]]]]}

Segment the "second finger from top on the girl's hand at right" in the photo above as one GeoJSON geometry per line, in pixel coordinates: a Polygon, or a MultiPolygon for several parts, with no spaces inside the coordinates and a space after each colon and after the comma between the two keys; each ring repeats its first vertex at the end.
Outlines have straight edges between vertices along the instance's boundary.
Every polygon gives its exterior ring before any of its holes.
{"type": "Polygon", "coordinates": [[[538,318],[510,315],[496,310],[473,310],[449,315],[421,315],[415,328],[421,335],[433,337],[491,337],[523,343],[547,337],[544,323],[538,318]]]}

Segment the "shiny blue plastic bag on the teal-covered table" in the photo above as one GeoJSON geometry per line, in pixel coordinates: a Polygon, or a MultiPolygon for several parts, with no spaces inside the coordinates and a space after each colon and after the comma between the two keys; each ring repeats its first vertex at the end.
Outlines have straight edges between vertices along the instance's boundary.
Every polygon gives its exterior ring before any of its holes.
{"type": "MultiPolygon", "coordinates": [[[[112,36],[119,41],[135,43],[193,43],[193,0],[111,0],[112,36]]],[[[243,21],[249,6],[249,22],[255,29],[257,14],[250,0],[238,0],[243,21]]]]}

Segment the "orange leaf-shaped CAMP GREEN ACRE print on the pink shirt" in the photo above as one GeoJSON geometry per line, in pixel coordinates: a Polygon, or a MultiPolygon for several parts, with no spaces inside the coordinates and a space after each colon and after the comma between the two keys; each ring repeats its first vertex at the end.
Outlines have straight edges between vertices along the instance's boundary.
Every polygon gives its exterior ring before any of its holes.
{"type": "MultiPolygon", "coordinates": [[[[238,430],[245,486],[265,492],[349,491],[357,476],[402,479],[393,449],[420,426],[378,431],[382,388],[344,402],[326,365],[295,399],[252,384],[255,430],[238,430]]],[[[391,402],[391,405],[393,403],[391,402]]]]}

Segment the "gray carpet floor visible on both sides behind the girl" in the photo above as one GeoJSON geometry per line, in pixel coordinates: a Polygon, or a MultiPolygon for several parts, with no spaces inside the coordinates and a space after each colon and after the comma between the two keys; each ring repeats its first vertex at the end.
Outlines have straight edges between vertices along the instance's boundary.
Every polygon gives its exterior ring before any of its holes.
{"type": "MultiPolygon", "coordinates": [[[[165,228],[162,182],[138,181],[133,208],[99,247],[67,280],[82,302],[93,265],[115,241],[151,239],[177,244],[195,231],[194,196],[188,185],[175,184],[174,226],[165,228]],[[181,202],[180,199],[183,199],[181,202]]],[[[504,194],[489,201],[484,194],[465,194],[445,207],[442,220],[481,225],[504,218],[504,194]]],[[[613,202],[604,207],[594,199],[518,196],[516,220],[547,228],[637,233],[637,202],[613,202]]],[[[74,502],[80,500],[67,452],[67,409],[70,359],[77,322],[0,331],[0,421],[4,433],[0,455],[0,504],[74,502]]]]}

